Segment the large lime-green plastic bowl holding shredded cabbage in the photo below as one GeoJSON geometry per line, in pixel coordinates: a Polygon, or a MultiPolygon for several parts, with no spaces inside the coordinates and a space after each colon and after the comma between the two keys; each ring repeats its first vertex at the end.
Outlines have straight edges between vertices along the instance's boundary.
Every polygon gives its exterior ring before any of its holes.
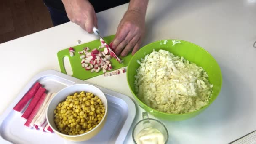
{"type": "Polygon", "coordinates": [[[172,40],[160,40],[148,45],[145,45],[138,52],[134,54],[127,68],[127,81],[129,88],[133,94],[134,99],[142,107],[145,111],[151,113],[155,117],[161,120],[169,120],[169,121],[181,121],[186,120],[196,115],[200,114],[205,110],[213,101],[217,98],[219,92],[221,91],[222,86],[222,75],[221,69],[216,62],[216,60],[211,56],[207,51],[201,48],[198,45],[193,43],[189,43],[184,40],[179,40],[181,43],[177,43],[173,46],[172,40]],[[146,104],[144,104],[137,96],[134,87],[134,76],[136,75],[136,69],[139,67],[137,60],[144,58],[147,54],[151,53],[155,49],[155,51],[159,51],[160,49],[170,51],[176,56],[183,56],[185,59],[189,60],[192,63],[197,64],[197,66],[203,67],[205,71],[208,73],[209,81],[213,84],[213,93],[210,99],[210,102],[205,107],[201,109],[189,112],[186,114],[169,114],[165,112],[160,112],[155,109],[150,108],[146,104]]]}

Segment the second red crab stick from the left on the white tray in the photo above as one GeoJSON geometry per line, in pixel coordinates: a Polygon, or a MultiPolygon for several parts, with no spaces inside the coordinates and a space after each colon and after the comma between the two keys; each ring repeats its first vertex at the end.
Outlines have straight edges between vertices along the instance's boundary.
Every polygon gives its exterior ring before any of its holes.
{"type": "Polygon", "coordinates": [[[31,100],[31,102],[29,103],[29,106],[27,107],[27,109],[25,110],[25,112],[23,113],[23,115],[21,116],[22,118],[28,119],[29,115],[32,113],[33,109],[35,108],[35,106],[37,105],[37,102],[39,101],[39,99],[41,98],[41,96],[43,96],[43,93],[45,93],[45,88],[40,87],[37,90],[37,93],[35,93],[35,96],[33,97],[33,99],[31,100]]]}

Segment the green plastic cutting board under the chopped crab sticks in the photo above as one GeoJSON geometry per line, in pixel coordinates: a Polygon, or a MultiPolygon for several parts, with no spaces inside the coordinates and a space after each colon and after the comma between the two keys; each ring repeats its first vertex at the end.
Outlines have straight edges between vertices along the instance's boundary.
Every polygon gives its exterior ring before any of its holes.
{"type": "MultiPolygon", "coordinates": [[[[104,37],[104,40],[106,41],[106,43],[110,43],[114,39],[114,37],[115,37],[115,35],[104,37]]],[[[88,43],[74,46],[74,47],[72,47],[75,49],[75,53],[74,53],[73,57],[71,57],[69,55],[69,48],[59,51],[57,53],[57,57],[58,57],[61,72],[64,74],[67,74],[65,67],[64,67],[64,61],[63,61],[64,57],[67,56],[69,58],[69,62],[70,62],[71,69],[73,72],[72,77],[76,77],[80,80],[87,80],[89,78],[96,77],[98,75],[102,75],[103,74],[102,70],[98,73],[96,73],[96,72],[91,73],[91,70],[90,71],[85,70],[85,68],[83,68],[81,66],[81,59],[80,59],[81,55],[78,53],[79,51],[83,51],[84,47],[89,47],[91,50],[93,50],[94,48],[98,49],[100,45],[101,45],[101,43],[100,43],[100,40],[98,39],[98,40],[94,40],[94,41],[91,41],[88,43]]],[[[100,49],[100,51],[103,51],[103,50],[104,50],[104,48],[100,49]]],[[[121,67],[128,66],[128,63],[129,63],[131,57],[132,57],[131,52],[126,57],[120,56],[120,59],[124,60],[123,64],[120,64],[117,60],[115,60],[114,58],[111,58],[110,61],[111,61],[111,65],[113,67],[113,69],[111,71],[120,69],[121,67]]],[[[107,72],[109,72],[109,71],[107,71],[107,72]]]]}

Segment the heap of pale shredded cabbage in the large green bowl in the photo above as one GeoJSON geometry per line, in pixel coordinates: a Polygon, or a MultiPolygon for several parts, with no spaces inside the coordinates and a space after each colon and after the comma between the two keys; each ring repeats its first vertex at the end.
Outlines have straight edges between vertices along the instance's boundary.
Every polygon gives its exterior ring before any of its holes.
{"type": "Polygon", "coordinates": [[[149,107],[184,114],[209,103],[213,85],[202,67],[165,50],[153,51],[137,62],[135,91],[149,107]]]}

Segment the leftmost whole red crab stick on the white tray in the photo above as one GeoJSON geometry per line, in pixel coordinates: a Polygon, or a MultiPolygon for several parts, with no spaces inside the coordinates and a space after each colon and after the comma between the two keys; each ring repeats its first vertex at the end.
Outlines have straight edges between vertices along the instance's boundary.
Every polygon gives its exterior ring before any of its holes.
{"type": "Polygon", "coordinates": [[[13,107],[13,110],[17,111],[17,112],[21,112],[24,107],[26,107],[26,105],[28,104],[28,102],[30,101],[30,99],[32,99],[32,97],[35,95],[35,93],[37,92],[37,90],[40,88],[41,84],[36,82],[32,88],[30,88],[30,90],[21,98],[21,100],[15,105],[15,107],[13,107]]]}

